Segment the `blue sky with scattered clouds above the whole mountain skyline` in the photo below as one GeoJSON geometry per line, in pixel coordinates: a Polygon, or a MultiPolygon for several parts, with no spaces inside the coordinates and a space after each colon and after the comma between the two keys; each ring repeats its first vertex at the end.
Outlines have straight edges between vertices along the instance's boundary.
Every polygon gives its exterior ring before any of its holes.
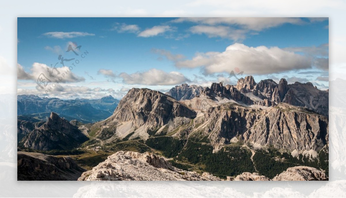
{"type": "Polygon", "coordinates": [[[328,18],[18,18],[18,94],[121,98],[132,87],[235,84],[236,68],[327,89],[328,30],[328,18]],[[63,67],[59,55],[74,59],[63,67]]]}

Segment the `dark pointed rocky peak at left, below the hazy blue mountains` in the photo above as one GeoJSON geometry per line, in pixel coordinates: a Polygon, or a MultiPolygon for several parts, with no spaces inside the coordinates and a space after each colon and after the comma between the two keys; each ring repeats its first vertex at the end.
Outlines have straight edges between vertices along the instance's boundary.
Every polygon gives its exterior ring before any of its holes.
{"type": "Polygon", "coordinates": [[[52,112],[48,121],[29,132],[19,143],[36,150],[72,149],[88,138],[74,125],[52,112]]]}

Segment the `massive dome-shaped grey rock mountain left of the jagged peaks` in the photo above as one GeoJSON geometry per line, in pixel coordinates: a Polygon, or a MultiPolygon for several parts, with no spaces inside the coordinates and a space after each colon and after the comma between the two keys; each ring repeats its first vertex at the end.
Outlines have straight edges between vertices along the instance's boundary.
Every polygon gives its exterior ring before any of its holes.
{"type": "Polygon", "coordinates": [[[124,138],[132,132],[131,138],[145,139],[149,133],[160,133],[165,125],[176,128],[189,123],[196,115],[183,103],[161,92],[133,88],[120,100],[113,115],[95,123],[91,130],[96,130],[104,140],[124,138]]]}

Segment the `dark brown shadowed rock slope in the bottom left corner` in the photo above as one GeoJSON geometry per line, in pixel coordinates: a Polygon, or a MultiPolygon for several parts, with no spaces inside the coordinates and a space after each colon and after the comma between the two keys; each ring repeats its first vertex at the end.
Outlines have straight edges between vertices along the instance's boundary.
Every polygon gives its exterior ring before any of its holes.
{"type": "Polygon", "coordinates": [[[17,153],[17,179],[30,181],[77,180],[85,169],[70,157],[55,157],[42,153],[17,153]]]}

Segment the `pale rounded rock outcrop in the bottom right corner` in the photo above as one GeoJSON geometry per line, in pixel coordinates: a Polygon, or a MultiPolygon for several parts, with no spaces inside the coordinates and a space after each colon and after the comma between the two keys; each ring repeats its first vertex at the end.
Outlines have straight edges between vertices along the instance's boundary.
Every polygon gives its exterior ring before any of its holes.
{"type": "Polygon", "coordinates": [[[324,171],[307,166],[288,168],[273,178],[273,181],[326,181],[328,177],[324,171]]]}

